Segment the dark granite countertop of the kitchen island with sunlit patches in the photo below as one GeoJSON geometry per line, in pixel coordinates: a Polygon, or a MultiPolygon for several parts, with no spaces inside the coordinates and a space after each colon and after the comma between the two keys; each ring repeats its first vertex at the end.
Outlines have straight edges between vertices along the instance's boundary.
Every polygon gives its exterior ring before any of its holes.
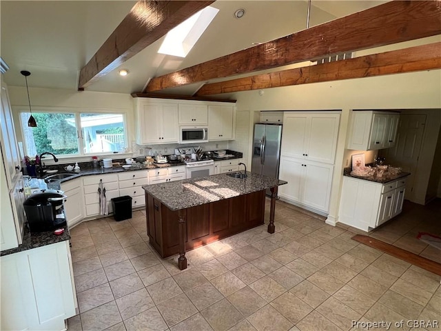
{"type": "Polygon", "coordinates": [[[245,179],[229,177],[227,174],[214,174],[208,177],[144,185],[143,189],[170,210],[181,210],[286,183],[273,177],[247,172],[245,179]]]}

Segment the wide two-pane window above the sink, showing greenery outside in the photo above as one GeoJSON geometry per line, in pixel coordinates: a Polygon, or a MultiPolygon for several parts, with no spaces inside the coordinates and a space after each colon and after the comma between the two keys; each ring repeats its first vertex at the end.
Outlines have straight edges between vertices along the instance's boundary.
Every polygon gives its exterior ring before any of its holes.
{"type": "Polygon", "coordinates": [[[28,127],[30,113],[21,113],[27,155],[125,152],[127,147],[123,114],[35,111],[32,114],[37,128],[28,127]]]}

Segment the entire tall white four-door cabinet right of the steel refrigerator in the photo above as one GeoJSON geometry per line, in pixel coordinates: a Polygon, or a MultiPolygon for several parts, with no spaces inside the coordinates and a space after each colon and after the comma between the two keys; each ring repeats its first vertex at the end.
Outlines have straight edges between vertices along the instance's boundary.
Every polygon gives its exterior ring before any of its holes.
{"type": "Polygon", "coordinates": [[[281,199],[327,213],[337,146],[337,112],[285,112],[279,178],[281,199]]]}

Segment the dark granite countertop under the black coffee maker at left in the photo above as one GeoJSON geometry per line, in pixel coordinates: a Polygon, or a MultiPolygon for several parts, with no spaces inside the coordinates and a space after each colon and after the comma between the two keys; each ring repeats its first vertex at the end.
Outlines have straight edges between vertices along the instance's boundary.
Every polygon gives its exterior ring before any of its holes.
{"type": "Polygon", "coordinates": [[[59,243],[70,239],[70,232],[67,225],[63,227],[64,232],[57,236],[54,231],[45,232],[30,232],[27,224],[25,224],[25,230],[23,234],[23,243],[17,248],[11,248],[10,250],[2,250],[1,256],[23,252],[25,250],[32,250],[33,248],[43,247],[45,245],[51,245],[52,243],[59,243]]]}

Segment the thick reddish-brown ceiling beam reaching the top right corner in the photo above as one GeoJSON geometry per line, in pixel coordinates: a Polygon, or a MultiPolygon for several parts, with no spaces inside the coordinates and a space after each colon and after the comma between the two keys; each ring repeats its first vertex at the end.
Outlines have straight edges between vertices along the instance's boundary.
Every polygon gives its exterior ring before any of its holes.
{"type": "Polygon", "coordinates": [[[267,70],[441,33],[441,2],[390,1],[150,80],[144,92],[267,70]]]}

